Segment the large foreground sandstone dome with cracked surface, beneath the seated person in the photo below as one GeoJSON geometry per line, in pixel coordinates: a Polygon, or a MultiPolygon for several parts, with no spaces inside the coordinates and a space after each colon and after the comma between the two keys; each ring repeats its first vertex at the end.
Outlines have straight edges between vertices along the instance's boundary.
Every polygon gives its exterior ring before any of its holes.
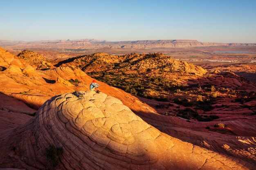
{"type": "Polygon", "coordinates": [[[170,137],[114,97],[94,91],[49,99],[36,117],[0,139],[0,166],[51,167],[45,148],[63,148],[58,169],[214,170],[249,164],[170,137]],[[14,148],[14,149],[11,149],[14,148]]]}

